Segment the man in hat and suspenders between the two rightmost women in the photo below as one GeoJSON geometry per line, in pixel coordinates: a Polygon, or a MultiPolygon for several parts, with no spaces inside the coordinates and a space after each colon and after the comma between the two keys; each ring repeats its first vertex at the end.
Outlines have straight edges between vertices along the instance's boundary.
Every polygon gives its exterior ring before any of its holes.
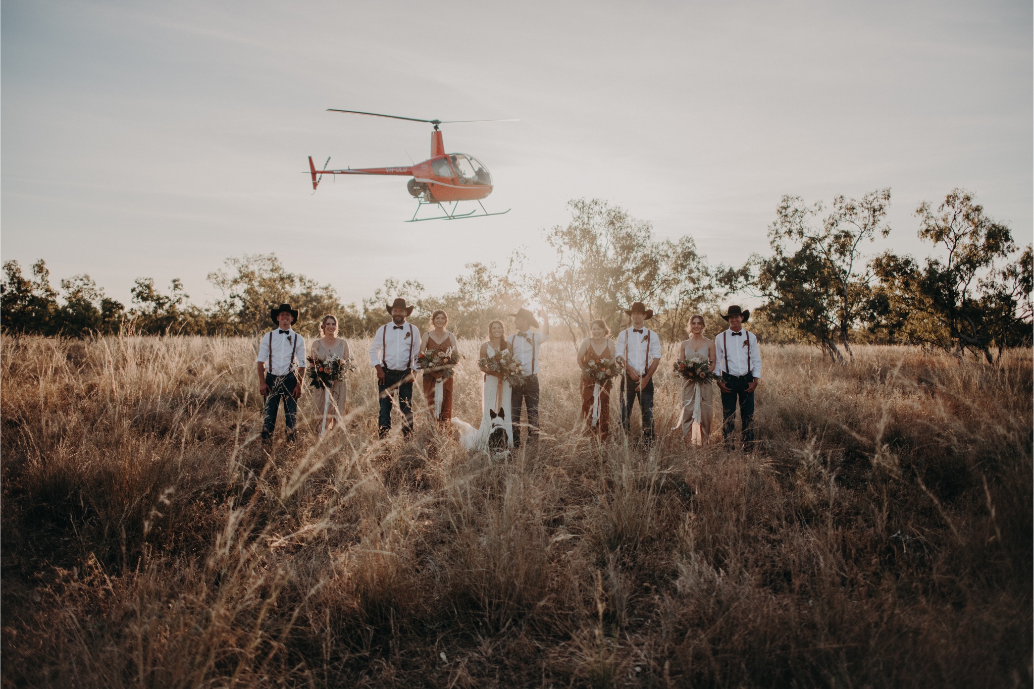
{"type": "Polygon", "coordinates": [[[661,365],[661,338],[646,327],[653,317],[653,309],[636,302],[625,312],[632,326],[617,335],[615,351],[625,358],[621,376],[621,426],[627,434],[632,428],[632,405],[639,399],[639,413],[643,419],[643,442],[653,442],[653,373],[661,365]]]}

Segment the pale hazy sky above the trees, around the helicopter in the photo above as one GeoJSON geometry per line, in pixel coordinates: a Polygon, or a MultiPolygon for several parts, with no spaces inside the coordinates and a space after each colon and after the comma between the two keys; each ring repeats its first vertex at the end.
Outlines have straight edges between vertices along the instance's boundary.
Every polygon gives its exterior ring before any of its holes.
{"type": "MultiPolygon", "coordinates": [[[[49,2],[2,4],[4,260],[136,277],[196,303],[227,256],[276,252],[346,301],[432,293],[600,197],[692,234],[712,262],[767,250],[780,196],[892,188],[889,244],[955,186],[1032,232],[1032,6],[1023,2],[49,2]],[[430,126],[325,112],[520,118],[445,125],[507,216],[406,224],[430,126]]],[[[883,244],[873,245],[876,250],[883,244]]]]}

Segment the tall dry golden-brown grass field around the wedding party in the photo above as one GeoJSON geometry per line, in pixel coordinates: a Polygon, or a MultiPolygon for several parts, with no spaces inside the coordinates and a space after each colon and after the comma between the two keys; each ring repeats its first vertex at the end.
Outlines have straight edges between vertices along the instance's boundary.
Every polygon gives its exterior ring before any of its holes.
{"type": "Polygon", "coordinates": [[[1030,350],[766,347],[749,455],[668,430],[669,353],[647,453],[579,433],[550,343],[544,437],[491,463],[375,443],[367,368],[266,451],[253,351],[3,338],[4,687],[1032,684],[1030,350]]]}

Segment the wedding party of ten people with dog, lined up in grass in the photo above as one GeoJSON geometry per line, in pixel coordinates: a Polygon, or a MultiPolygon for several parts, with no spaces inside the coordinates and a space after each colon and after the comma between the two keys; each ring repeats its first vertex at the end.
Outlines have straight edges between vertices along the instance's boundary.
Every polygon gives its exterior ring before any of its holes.
{"type": "MultiPolygon", "coordinates": [[[[396,299],[386,305],[391,320],[377,328],[368,350],[368,364],[376,373],[379,399],[377,432],[382,438],[392,429],[392,412],[401,417],[404,438],[414,432],[413,388],[418,382],[429,415],[438,429],[455,434],[468,449],[503,452],[539,437],[541,347],[550,340],[549,317],[519,309],[508,319],[488,324],[487,341],[481,344],[482,414],[478,426],[453,416],[453,373],[459,365],[456,336],[447,330],[449,315],[431,314],[432,330],[421,333],[408,321],[414,306],[396,299]],[[537,317],[538,315],[538,317],[537,317]],[[541,322],[539,320],[541,318],[541,322]],[[522,433],[523,431],[523,433],[522,433]]],[[[661,338],[648,327],[653,311],[636,302],[625,310],[627,327],[611,338],[603,320],[589,324],[589,337],[578,346],[581,371],[581,416],[584,430],[601,441],[611,435],[610,398],[617,387],[621,427],[630,433],[636,405],[642,419],[643,445],[655,439],[653,380],[661,365],[661,338]],[[616,380],[615,380],[616,379],[616,380]]],[[[288,441],[295,438],[298,402],[304,389],[311,392],[312,410],[321,433],[340,425],[348,396],[345,373],[354,363],[347,341],[338,337],[337,318],[326,315],[320,322],[321,337],[311,343],[294,330],[298,310],[281,304],[270,310],[276,324],[258,343],[255,366],[264,404],[262,438],[269,442],[279,409],[288,441]]],[[[736,409],[739,409],[739,447],[750,448],[754,437],[754,390],[761,380],[761,353],[757,337],[743,328],[751,312],[730,306],[721,314],[728,326],[713,340],[705,337],[706,322],[694,314],[687,323],[686,340],[676,348],[673,371],[681,384],[678,430],[687,444],[704,445],[710,439],[713,419],[713,386],[722,401],[722,436],[734,443],[736,409]]]]}

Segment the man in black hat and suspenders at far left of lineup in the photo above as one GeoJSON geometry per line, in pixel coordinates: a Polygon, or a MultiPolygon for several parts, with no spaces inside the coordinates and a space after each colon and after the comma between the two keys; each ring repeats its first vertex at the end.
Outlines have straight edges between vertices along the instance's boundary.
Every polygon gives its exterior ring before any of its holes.
{"type": "Polygon", "coordinates": [[[298,310],[292,309],[290,304],[270,309],[269,316],[277,327],[263,336],[255,358],[258,392],[266,399],[262,439],[268,441],[273,437],[282,400],[286,439],[294,440],[298,398],[302,396],[305,378],[305,338],[292,328],[298,320],[298,310]]]}

